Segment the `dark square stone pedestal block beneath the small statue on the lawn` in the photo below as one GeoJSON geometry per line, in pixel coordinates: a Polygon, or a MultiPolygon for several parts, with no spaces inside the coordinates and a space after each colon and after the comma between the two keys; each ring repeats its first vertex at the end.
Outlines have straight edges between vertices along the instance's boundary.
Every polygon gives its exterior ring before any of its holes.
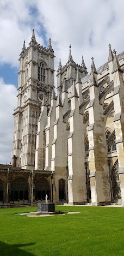
{"type": "Polygon", "coordinates": [[[55,205],[54,203],[38,203],[37,205],[37,212],[54,212],[55,205]]]}

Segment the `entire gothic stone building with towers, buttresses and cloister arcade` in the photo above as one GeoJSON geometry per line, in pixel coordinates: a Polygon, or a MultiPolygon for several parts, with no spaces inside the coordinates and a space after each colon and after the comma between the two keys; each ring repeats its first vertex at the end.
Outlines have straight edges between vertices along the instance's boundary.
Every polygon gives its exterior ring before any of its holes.
{"type": "Polygon", "coordinates": [[[88,74],[71,49],[57,70],[54,51],[23,44],[14,112],[12,165],[0,165],[0,207],[55,203],[124,204],[124,52],[88,74]]]}

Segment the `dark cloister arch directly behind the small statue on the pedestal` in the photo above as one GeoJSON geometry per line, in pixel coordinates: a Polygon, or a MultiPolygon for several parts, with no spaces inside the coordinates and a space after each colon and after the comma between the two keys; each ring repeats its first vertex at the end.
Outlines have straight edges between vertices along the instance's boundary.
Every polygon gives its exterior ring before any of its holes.
{"type": "Polygon", "coordinates": [[[45,200],[46,195],[48,195],[48,200],[50,198],[49,183],[45,178],[40,178],[35,183],[35,200],[45,200]]]}

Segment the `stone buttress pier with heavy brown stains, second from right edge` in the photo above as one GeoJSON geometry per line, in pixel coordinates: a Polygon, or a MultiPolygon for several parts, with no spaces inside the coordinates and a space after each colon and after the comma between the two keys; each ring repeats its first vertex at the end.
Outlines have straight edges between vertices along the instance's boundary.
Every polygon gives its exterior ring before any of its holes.
{"type": "Polygon", "coordinates": [[[91,203],[107,203],[110,202],[110,186],[106,132],[103,106],[99,104],[99,90],[93,66],[91,66],[89,92],[88,138],[91,203]]]}

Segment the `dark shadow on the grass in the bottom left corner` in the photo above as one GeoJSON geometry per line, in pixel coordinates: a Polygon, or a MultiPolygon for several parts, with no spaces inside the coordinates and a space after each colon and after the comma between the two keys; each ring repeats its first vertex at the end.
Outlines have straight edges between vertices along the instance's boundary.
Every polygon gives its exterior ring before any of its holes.
{"type": "Polygon", "coordinates": [[[35,256],[32,253],[26,252],[26,248],[24,250],[20,249],[20,247],[26,247],[26,246],[32,246],[35,243],[23,243],[23,244],[14,244],[14,245],[8,245],[7,243],[0,241],[0,255],[1,256],[35,256]]]}

